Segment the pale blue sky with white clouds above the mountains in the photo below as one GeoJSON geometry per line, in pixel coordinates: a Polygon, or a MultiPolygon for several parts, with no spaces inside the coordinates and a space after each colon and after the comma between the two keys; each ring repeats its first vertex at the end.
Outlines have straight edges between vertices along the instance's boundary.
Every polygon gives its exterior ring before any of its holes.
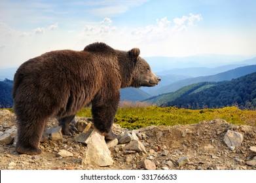
{"type": "Polygon", "coordinates": [[[0,0],[0,68],[105,42],[141,56],[256,56],[254,0],[0,0]]]}

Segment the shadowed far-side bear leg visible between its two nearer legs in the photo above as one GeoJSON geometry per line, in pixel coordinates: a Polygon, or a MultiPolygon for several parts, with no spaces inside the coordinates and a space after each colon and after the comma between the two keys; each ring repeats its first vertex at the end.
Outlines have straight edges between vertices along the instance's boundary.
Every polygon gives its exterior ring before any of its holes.
{"type": "Polygon", "coordinates": [[[59,125],[62,125],[62,133],[64,135],[72,135],[78,132],[75,127],[75,115],[60,118],[58,122],[59,125]]]}

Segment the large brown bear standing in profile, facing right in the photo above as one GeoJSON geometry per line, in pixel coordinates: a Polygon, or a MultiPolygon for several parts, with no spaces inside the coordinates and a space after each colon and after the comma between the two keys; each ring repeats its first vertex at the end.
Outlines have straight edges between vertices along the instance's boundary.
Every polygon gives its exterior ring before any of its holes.
{"type": "Polygon", "coordinates": [[[81,51],[46,52],[22,63],[14,75],[12,98],[18,123],[16,151],[41,154],[40,139],[49,118],[57,118],[62,133],[81,108],[91,105],[94,127],[114,139],[112,125],[119,106],[120,88],[156,86],[156,76],[139,48],[115,50],[103,42],[81,51]]]}

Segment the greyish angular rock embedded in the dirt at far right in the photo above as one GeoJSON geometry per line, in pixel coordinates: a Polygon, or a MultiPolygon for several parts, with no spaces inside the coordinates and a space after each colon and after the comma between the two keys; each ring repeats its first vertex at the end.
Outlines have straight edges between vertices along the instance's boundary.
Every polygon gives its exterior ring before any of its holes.
{"type": "Polygon", "coordinates": [[[240,147],[243,140],[244,140],[243,135],[241,133],[236,132],[236,131],[228,130],[227,133],[224,136],[224,142],[225,142],[225,144],[227,144],[227,146],[229,148],[230,147],[232,148],[232,146],[240,147]]]}

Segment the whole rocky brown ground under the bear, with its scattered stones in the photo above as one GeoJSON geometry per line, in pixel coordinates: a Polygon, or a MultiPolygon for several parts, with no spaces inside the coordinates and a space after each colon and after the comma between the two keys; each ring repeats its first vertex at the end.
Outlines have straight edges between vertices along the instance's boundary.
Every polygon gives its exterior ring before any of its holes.
{"type": "MultiPolygon", "coordinates": [[[[0,169],[256,169],[256,127],[232,125],[225,120],[149,126],[135,131],[114,125],[113,131],[120,139],[107,142],[108,165],[104,164],[105,158],[103,164],[88,161],[93,148],[86,136],[92,133],[92,124],[86,118],[76,120],[81,132],[65,136],[58,122],[51,119],[40,144],[42,154],[29,156],[15,151],[14,114],[0,110],[0,169]]],[[[90,140],[92,144],[97,138],[90,140]]]]}

